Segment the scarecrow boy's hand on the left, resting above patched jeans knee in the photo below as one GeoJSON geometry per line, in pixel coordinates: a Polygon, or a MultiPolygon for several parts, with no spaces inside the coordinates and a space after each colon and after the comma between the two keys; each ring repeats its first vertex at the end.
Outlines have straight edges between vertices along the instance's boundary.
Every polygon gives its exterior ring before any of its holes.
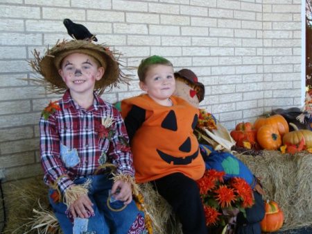
{"type": "Polygon", "coordinates": [[[80,217],[87,219],[94,214],[92,206],[93,203],[90,201],[89,197],[87,195],[82,195],[71,204],[69,209],[71,210],[73,218],[80,217]]]}

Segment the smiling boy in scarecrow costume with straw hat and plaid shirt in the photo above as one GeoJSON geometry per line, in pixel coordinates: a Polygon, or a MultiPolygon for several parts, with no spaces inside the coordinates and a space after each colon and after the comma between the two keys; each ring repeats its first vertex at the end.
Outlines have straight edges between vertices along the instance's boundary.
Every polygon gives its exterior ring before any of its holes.
{"type": "Polygon", "coordinates": [[[125,82],[114,52],[91,40],[64,40],[31,65],[61,93],[40,119],[40,155],[49,201],[64,234],[146,233],[132,201],[132,153],[123,119],[98,95],[125,82]]]}

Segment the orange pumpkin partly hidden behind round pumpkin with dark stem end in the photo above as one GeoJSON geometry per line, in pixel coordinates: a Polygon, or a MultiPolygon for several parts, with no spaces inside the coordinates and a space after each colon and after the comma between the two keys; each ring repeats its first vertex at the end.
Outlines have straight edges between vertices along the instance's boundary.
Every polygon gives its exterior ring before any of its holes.
{"type": "Polygon", "coordinates": [[[259,130],[259,128],[261,128],[261,126],[263,125],[276,126],[279,131],[279,135],[281,135],[281,137],[285,133],[289,132],[288,123],[286,119],[282,117],[281,115],[272,115],[272,116],[266,115],[265,117],[259,117],[254,122],[254,128],[256,130],[259,130]]]}

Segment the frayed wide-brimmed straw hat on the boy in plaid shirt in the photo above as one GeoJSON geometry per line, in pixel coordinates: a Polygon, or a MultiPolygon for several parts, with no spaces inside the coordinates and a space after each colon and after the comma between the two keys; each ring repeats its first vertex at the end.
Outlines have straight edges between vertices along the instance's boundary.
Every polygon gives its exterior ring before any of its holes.
{"type": "Polygon", "coordinates": [[[63,40],[58,41],[52,49],[48,49],[44,56],[34,51],[35,59],[31,66],[43,76],[42,83],[47,90],[54,93],[62,93],[67,86],[58,73],[62,60],[71,53],[84,53],[92,56],[105,68],[101,80],[96,81],[94,90],[102,94],[106,87],[116,87],[118,83],[128,83],[129,78],[121,72],[118,58],[120,53],[111,51],[105,44],[95,44],[92,40],[63,40]],[[116,58],[115,58],[116,56],[116,58]]]}

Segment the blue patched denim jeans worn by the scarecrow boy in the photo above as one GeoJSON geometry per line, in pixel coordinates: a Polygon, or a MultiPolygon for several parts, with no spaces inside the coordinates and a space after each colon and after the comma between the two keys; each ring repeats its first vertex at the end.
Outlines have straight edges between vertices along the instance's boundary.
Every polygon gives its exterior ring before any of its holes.
{"type": "MultiPolygon", "coordinates": [[[[87,223],[87,226],[85,226],[86,229],[82,228],[80,233],[74,234],[126,234],[136,221],[138,215],[144,217],[144,213],[137,209],[134,201],[121,211],[112,211],[107,207],[108,193],[112,188],[112,179],[110,179],[108,174],[78,178],[73,182],[76,185],[80,185],[85,183],[87,179],[92,180],[88,196],[94,204],[93,209],[95,215],[89,217],[89,219],[76,220],[77,222],[75,221],[75,224],[83,221],[85,224],[87,223]]],[[[73,234],[73,223],[66,215],[67,206],[62,202],[53,202],[53,199],[50,197],[53,191],[52,189],[49,190],[49,200],[55,217],[58,219],[64,234],[73,234]]],[[[121,201],[114,202],[115,205],[118,205],[118,203],[121,203],[121,201]]],[[[75,226],[76,229],[77,226],[75,226]]]]}

